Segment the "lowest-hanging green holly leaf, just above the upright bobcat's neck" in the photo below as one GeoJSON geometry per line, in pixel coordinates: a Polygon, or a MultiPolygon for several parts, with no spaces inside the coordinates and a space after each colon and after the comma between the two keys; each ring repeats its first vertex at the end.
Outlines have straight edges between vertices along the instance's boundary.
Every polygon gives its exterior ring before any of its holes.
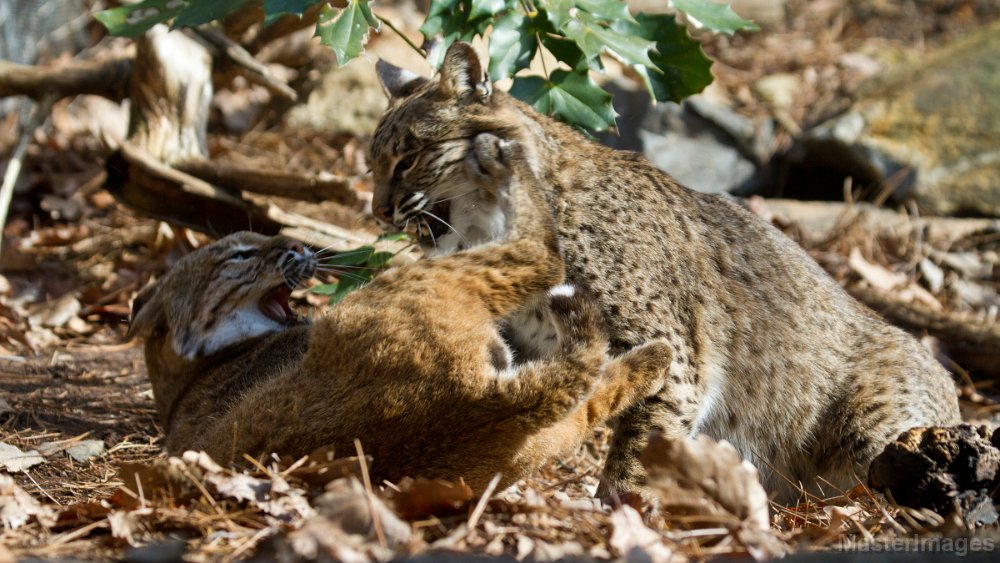
{"type": "Polygon", "coordinates": [[[602,90],[586,70],[556,70],[541,76],[518,76],[511,95],[546,115],[586,129],[604,131],[615,123],[611,94],[602,90]]]}

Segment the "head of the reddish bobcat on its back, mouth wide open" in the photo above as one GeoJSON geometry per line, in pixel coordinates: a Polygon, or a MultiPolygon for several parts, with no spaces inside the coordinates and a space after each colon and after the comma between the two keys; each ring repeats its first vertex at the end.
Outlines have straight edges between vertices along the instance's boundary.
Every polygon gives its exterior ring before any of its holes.
{"type": "Polygon", "coordinates": [[[298,241],[240,232],[182,258],[132,305],[129,337],[169,338],[187,359],[300,322],[292,289],[312,277],[316,258],[298,241]]]}

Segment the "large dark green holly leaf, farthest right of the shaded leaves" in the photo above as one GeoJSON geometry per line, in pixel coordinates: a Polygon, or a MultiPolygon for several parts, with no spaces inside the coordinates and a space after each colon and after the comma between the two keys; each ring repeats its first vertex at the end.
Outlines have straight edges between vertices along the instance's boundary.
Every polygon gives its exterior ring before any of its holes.
{"type": "Polygon", "coordinates": [[[670,14],[638,14],[634,24],[614,24],[621,33],[656,42],[653,66],[635,65],[650,94],[661,102],[679,102],[712,83],[712,61],[670,14]]]}

